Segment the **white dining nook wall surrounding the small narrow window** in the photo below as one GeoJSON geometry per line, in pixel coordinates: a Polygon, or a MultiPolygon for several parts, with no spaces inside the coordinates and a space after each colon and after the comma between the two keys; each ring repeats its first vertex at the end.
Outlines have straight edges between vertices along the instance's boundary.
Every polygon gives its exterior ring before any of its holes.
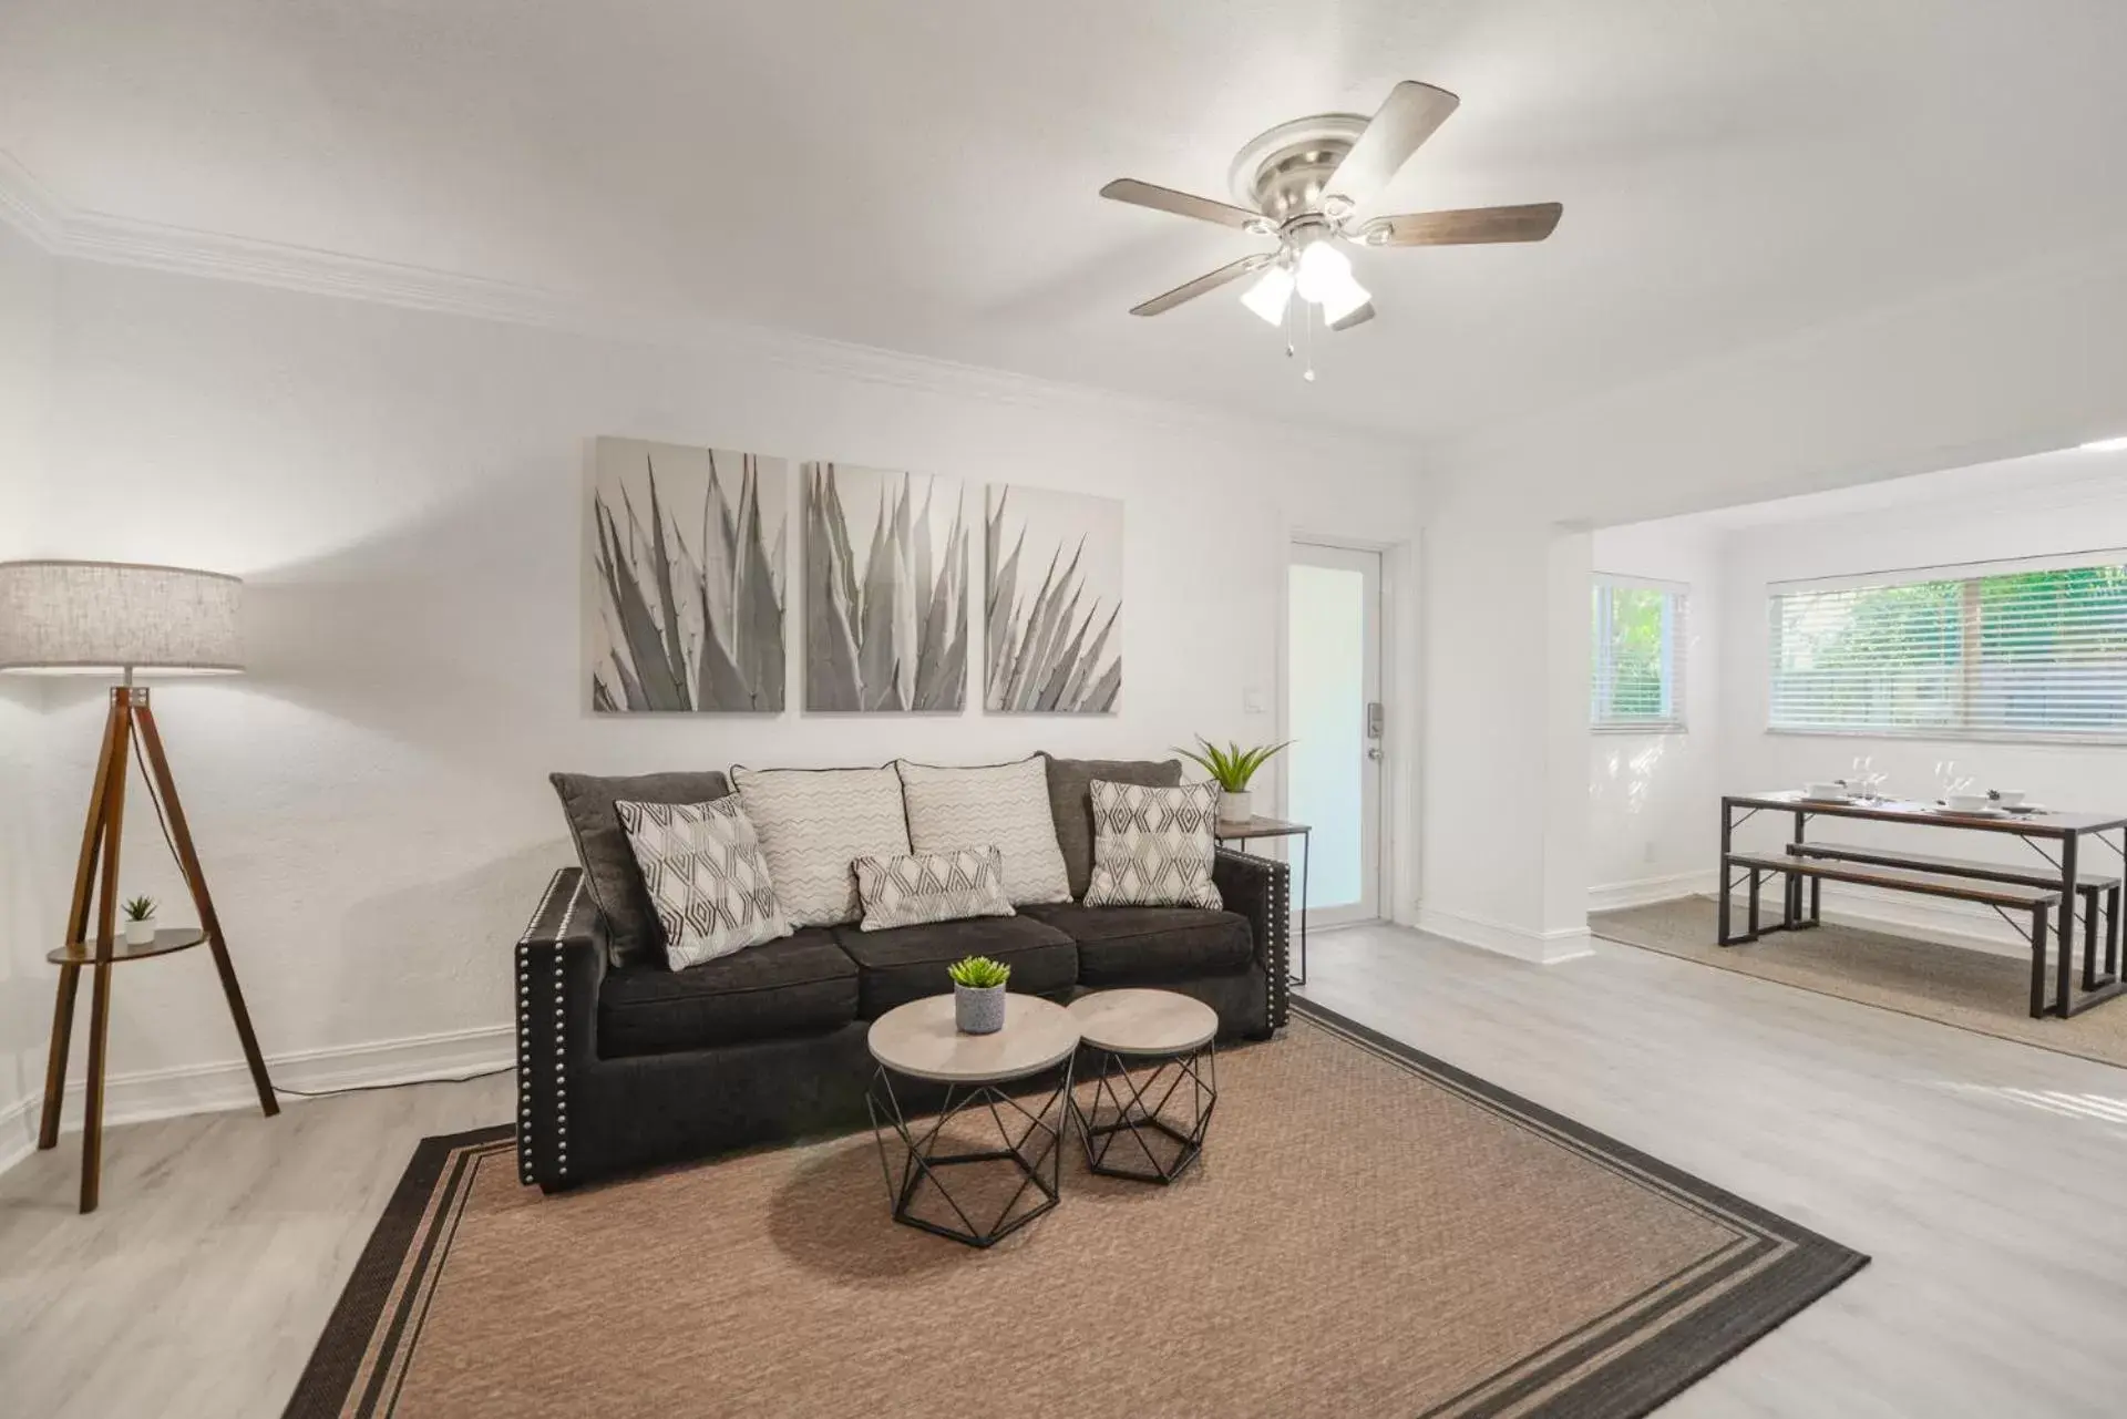
{"type": "Polygon", "coordinates": [[[1689,519],[1600,528],[1597,572],[1689,587],[1685,730],[1587,734],[1589,908],[1627,906],[1712,885],[1721,794],[1721,536],[1689,519]]]}

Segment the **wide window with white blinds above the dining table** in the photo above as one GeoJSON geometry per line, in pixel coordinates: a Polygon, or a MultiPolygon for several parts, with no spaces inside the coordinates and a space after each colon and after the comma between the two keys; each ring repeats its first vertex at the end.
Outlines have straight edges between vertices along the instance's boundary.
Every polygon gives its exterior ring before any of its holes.
{"type": "MultiPolygon", "coordinates": [[[[1780,587],[1770,728],[2127,738],[2127,553],[1929,581],[1780,587]]],[[[1963,568],[1959,568],[1963,570],[1963,568]]]]}

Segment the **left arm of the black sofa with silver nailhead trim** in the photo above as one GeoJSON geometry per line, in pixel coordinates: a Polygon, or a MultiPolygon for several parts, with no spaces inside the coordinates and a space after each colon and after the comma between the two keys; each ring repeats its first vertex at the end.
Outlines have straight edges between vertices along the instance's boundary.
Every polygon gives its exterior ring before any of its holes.
{"type": "Polygon", "coordinates": [[[517,940],[517,1181],[568,1179],[570,1076],[598,1057],[606,934],[583,883],[562,868],[517,940]]]}

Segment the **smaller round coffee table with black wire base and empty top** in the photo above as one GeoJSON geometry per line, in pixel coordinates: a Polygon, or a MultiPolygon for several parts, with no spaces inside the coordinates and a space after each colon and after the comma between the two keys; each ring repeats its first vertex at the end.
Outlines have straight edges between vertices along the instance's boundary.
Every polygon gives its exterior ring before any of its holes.
{"type": "Polygon", "coordinates": [[[1204,1153],[1219,1102],[1219,1015],[1155,989],[1081,996],[1070,1006],[1089,1055],[1072,1115],[1093,1172],[1172,1183],[1204,1153]],[[1091,1102],[1081,1102],[1091,1083],[1091,1102]]]}

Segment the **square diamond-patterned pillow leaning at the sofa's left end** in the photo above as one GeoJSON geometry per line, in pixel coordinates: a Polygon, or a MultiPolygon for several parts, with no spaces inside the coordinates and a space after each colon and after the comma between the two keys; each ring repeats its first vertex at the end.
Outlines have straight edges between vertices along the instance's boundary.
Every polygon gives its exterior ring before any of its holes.
{"type": "Polygon", "coordinates": [[[736,794],[706,804],[613,806],[664,925],[666,966],[685,970],[791,934],[736,794]]]}

